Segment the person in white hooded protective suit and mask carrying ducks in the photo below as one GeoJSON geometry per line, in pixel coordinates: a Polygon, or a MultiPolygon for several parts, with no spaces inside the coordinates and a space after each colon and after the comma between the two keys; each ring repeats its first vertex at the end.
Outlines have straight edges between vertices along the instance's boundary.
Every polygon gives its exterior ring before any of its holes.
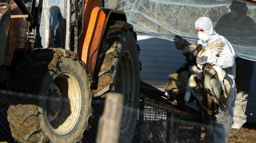
{"type": "Polygon", "coordinates": [[[226,72],[225,78],[228,79],[232,87],[225,102],[226,108],[220,105],[216,114],[213,115],[204,112],[204,123],[206,124],[204,126],[204,142],[227,143],[233,122],[236,101],[235,52],[227,39],[215,32],[213,22],[208,17],[201,17],[196,20],[195,28],[198,31],[198,38],[200,39],[195,44],[202,44],[202,46],[205,47],[219,38],[225,43],[219,57],[209,55],[208,57],[197,58],[196,62],[199,64],[209,63],[222,67],[226,72]],[[209,126],[210,118],[213,118],[213,126],[209,126]]]}

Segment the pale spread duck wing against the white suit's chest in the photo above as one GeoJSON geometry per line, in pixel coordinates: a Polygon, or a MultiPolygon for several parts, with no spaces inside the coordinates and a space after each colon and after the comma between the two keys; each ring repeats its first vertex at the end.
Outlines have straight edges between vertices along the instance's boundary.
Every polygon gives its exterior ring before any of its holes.
{"type": "Polygon", "coordinates": [[[208,44],[203,48],[203,50],[198,52],[197,57],[203,57],[203,56],[209,56],[209,55],[217,56],[221,52],[223,46],[224,46],[224,43],[222,39],[219,38],[213,41],[212,43],[208,44]]]}

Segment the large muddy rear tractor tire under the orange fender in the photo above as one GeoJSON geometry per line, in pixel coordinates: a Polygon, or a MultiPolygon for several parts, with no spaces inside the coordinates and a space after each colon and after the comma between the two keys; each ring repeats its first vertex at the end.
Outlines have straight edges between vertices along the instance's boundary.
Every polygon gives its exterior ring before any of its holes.
{"type": "Polygon", "coordinates": [[[139,47],[132,25],[123,21],[107,24],[94,76],[94,97],[108,92],[124,95],[120,143],[132,141],[137,120],[140,89],[139,47]]]}

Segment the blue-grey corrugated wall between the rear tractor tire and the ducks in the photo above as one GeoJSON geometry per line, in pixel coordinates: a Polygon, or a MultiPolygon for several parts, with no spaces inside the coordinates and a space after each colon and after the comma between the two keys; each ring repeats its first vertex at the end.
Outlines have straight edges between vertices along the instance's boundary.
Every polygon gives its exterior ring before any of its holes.
{"type": "Polygon", "coordinates": [[[175,48],[172,41],[159,38],[143,39],[142,37],[138,36],[137,42],[141,49],[139,54],[139,60],[142,63],[141,79],[167,82],[168,75],[175,72],[185,62],[185,56],[182,55],[181,50],[175,48]]]}

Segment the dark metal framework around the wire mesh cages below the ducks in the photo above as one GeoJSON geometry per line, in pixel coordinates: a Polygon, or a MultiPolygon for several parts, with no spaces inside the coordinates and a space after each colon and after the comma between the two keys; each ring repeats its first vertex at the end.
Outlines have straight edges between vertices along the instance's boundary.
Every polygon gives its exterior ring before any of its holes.
{"type": "MultiPolygon", "coordinates": [[[[169,113],[171,120],[169,123],[169,143],[172,143],[173,140],[173,130],[175,122],[179,119],[175,119],[176,115],[183,115],[186,117],[193,117],[198,121],[192,122],[192,126],[201,126],[202,123],[202,113],[190,108],[190,107],[179,107],[175,100],[173,102],[168,101],[168,97],[164,95],[165,92],[158,90],[157,88],[144,83],[141,81],[141,88],[140,88],[140,104],[139,104],[139,116],[138,116],[138,124],[137,128],[139,128],[139,143],[143,142],[143,126],[144,126],[144,113],[145,113],[145,106],[153,107],[156,109],[164,110],[169,113]]],[[[187,121],[181,121],[179,122],[187,122],[187,121]]],[[[200,128],[201,129],[201,128],[200,128]]],[[[198,132],[198,137],[201,137],[201,132],[198,132]]]]}

